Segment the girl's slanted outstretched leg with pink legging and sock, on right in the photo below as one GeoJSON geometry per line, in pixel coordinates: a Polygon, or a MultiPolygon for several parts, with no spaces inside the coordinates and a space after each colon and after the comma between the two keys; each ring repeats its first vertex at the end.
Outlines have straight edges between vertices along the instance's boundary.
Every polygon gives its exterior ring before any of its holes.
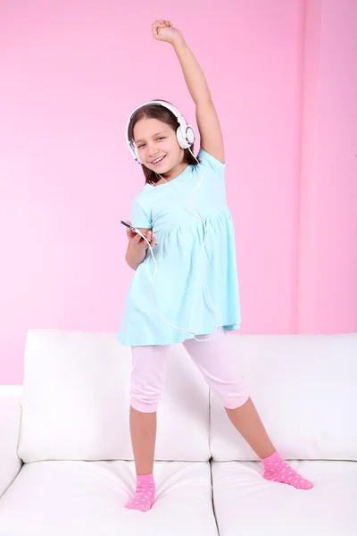
{"type": "Polygon", "coordinates": [[[262,420],[245,388],[243,376],[238,373],[237,360],[229,345],[226,331],[219,328],[211,335],[203,335],[203,342],[187,339],[187,353],[203,374],[209,387],[218,395],[230,422],[244,437],[264,465],[264,478],[286,482],[295,488],[310,489],[312,483],[303,479],[278,455],[262,420]]]}

